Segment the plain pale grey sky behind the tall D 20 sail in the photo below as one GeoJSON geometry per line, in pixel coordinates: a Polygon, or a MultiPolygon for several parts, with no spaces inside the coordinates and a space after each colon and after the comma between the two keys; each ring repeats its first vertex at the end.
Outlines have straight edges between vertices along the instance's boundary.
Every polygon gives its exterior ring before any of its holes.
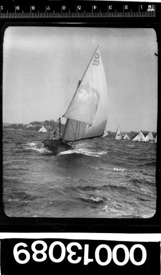
{"type": "MultiPolygon", "coordinates": [[[[3,41],[3,122],[63,116],[99,44],[108,89],[106,129],[157,130],[154,29],[8,27],[3,41]]],[[[63,122],[65,120],[63,119],[63,122]]]]}

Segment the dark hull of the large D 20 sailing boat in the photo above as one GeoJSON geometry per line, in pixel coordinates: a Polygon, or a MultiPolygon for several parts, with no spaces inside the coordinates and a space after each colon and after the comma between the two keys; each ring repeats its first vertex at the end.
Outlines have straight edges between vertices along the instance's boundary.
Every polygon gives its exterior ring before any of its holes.
{"type": "Polygon", "coordinates": [[[61,139],[46,139],[42,141],[43,146],[53,152],[53,155],[57,155],[60,152],[72,150],[73,147],[64,142],[61,139]]]}

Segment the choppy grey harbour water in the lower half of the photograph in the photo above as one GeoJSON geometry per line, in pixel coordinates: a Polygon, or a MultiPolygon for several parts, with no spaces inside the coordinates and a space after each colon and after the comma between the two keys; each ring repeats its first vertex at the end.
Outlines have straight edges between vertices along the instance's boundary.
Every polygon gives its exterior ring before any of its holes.
{"type": "Polygon", "coordinates": [[[6,215],[149,218],[155,214],[155,143],[96,138],[52,156],[41,145],[45,137],[4,129],[6,215]]]}

